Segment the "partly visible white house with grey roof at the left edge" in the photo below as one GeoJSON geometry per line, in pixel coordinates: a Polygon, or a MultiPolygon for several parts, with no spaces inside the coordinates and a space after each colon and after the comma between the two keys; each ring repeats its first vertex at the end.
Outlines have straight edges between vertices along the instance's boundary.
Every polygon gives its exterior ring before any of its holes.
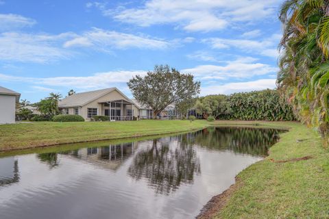
{"type": "Polygon", "coordinates": [[[16,103],[21,94],[0,86],[0,124],[15,123],[16,103]]]}

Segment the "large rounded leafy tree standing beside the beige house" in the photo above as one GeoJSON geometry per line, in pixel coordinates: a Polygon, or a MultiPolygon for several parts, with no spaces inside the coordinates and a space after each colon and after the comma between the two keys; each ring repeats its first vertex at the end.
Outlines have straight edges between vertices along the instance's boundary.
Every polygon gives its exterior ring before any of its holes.
{"type": "Polygon", "coordinates": [[[137,75],[127,83],[136,100],[152,108],[154,118],[171,104],[191,100],[199,94],[200,82],[168,65],[155,66],[145,77],[137,75]]]}

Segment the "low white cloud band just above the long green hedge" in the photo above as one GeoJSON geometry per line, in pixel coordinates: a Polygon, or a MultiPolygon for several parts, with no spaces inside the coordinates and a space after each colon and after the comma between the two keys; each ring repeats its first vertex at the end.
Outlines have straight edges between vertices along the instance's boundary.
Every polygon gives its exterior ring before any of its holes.
{"type": "Polygon", "coordinates": [[[256,81],[225,83],[219,86],[201,88],[201,95],[208,94],[232,94],[234,92],[249,92],[253,90],[265,90],[276,88],[276,79],[258,79],[256,81]]]}

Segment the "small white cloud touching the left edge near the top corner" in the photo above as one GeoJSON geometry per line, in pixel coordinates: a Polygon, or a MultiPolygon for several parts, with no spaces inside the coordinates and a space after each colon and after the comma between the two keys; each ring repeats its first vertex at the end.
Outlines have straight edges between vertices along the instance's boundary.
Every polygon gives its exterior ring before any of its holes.
{"type": "MultiPolygon", "coordinates": [[[[0,1],[0,5],[1,5],[0,1]]],[[[19,14],[0,14],[0,31],[17,29],[21,27],[31,27],[36,24],[32,18],[26,18],[19,14]]]]}

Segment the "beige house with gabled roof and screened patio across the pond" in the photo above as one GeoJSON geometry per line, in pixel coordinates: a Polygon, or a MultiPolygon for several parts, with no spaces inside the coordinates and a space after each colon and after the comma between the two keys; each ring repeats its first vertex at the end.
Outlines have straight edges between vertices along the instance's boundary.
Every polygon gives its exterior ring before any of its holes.
{"type": "Polygon", "coordinates": [[[117,88],[76,93],[60,100],[63,114],[75,114],[85,120],[109,116],[110,120],[132,120],[139,116],[139,107],[117,88]]]}

